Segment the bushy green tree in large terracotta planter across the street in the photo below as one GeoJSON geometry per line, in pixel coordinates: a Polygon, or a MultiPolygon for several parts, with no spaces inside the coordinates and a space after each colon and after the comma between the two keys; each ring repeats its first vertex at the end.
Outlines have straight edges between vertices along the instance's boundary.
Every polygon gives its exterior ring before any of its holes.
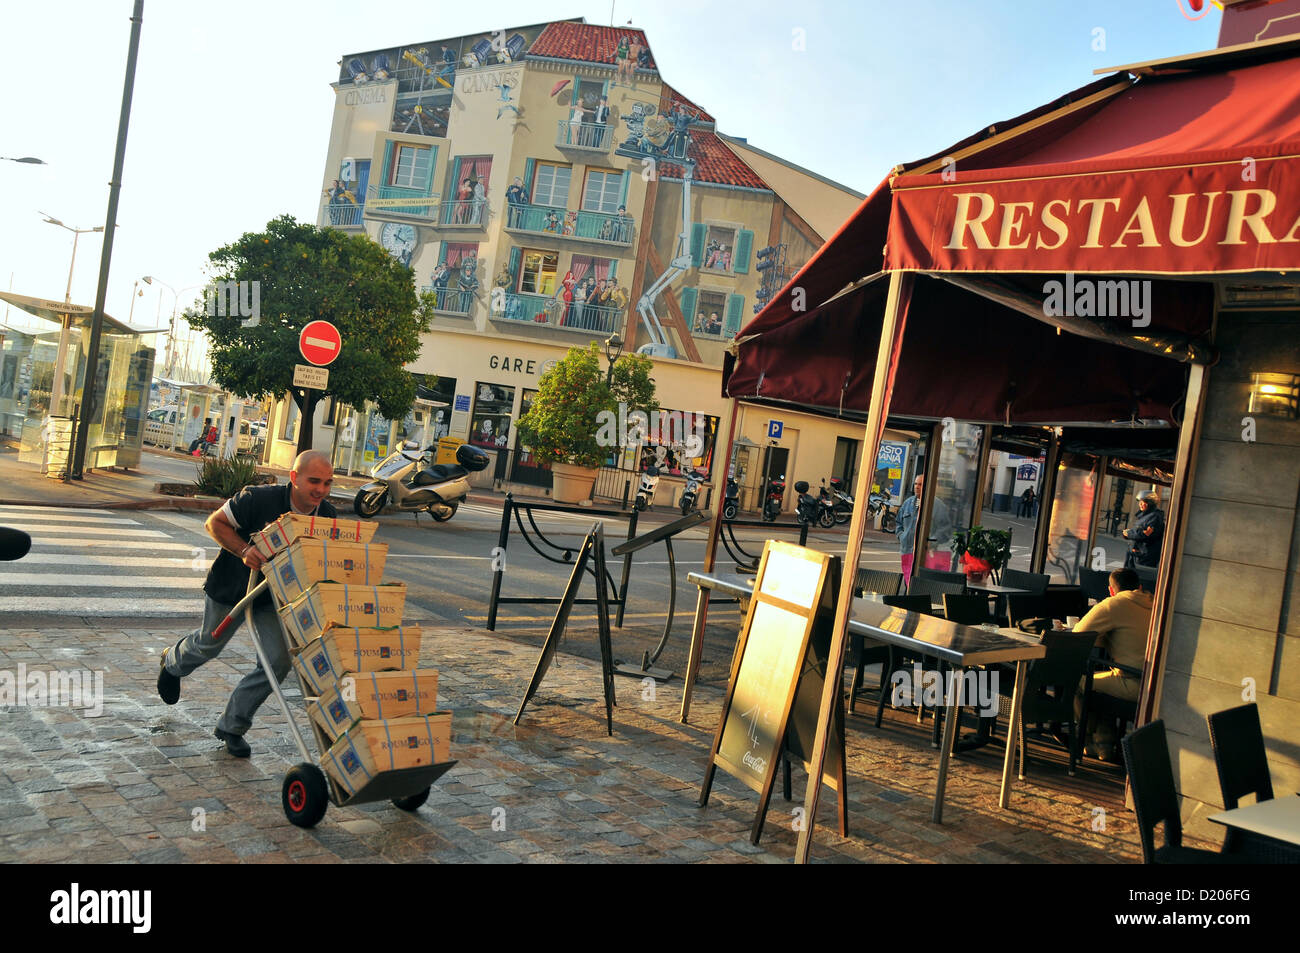
{"type": "Polygon", "coordinates": [[[621,442],[610,438],[616,430],[611,419],[659,410],[649,358],[625,354],[608,372],[601,365],[594,341],[585,348],[571,347],[542,374],[532,407],[519,419],[519,446],[551,464],[551,495],[559,503],[590,499],[599,467],[621,442]]]}

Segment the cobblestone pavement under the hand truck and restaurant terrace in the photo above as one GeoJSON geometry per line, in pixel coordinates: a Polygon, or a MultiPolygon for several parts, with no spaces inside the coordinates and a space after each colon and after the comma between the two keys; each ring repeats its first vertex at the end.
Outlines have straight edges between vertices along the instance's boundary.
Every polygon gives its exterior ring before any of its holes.
{"type": "MultiPolygon", "coordinates": [[[[0,862],[688,862],[785,863],[796,802],[774,794],[759,846],[757,796],[719,771],[697,806],[722,705],[697,689],[677,723],[681,683],[650,697],[616,679],[614,737],[604,731],[599,666],[560,654],[520,727],[511,719],[537,659],[533,645],[463,628],[426,629],[439,707],[455,712],[452,757],[428,803],[332,806],[311,831],[287,823],[281,783],[298,762],[274,699],[259,714],[248,761],[212,737],[228,693],[254,664],[247,631],[187,677],[181,702],[156,694],[159,653],[185,633],[155,629],[0,629],[0,672],[103,672],[103,712],[0,709],[0,862]]],[[[291,676],[286,685],[296,685],[291,676]]],[[[84,699],[83,699],[84,701],[84,699]]],[[[291,699],[291,703],[295,703],[291,699]]],[[[295,709],[299,724],[306,715],[295,709]]],[[[849,722],[850,835],[822,797],[814,859],[829,862],[1134,862],[1132,815],[1113,780],[1062,793],[1063,771],[1031,762],[1008,811],[997,807],[1001,746],[953,759],[942,824],[930,822],[937,758],[915,716],[883,729],[849,722]],[[1035,781],[1040,776],[1040,783],[1035,781]],[[1105,809],[1095,831],[1095,807],[1105,809]]],[[[1088,768],[1084,768],[1086,774],[1088,768]]],[[[1113,772],[1112,772],[1113,774],[1113,772]]]]}

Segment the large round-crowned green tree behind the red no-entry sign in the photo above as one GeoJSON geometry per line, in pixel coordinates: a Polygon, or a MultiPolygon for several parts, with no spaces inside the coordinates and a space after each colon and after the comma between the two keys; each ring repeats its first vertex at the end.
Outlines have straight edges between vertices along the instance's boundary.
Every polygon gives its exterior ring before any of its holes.
{"type": "MultiPolygon", "coordinates": [[[[410,410],[416,385],[406,364],[420,354],[433,300],[428,293],[416,294],[415,273],[380,244],[281,216],[265,231],[246,233],[208,259],[213,282],[259,282],[256,316],[211,304],[186,312],[190,326],[208,335],[212,376],[247,398],[289,391],[302,413],[299,452],[311,449],[315,404],[326,394],[354,407],[374,400],[389,419],[410,410]],[[315,320],[332,322],[343,339],[325,391],[292,386],[294,365],[307,363],[298,338],[315,320]]],[[[207,300],[225,304],[216,295],[207,300]]]]}

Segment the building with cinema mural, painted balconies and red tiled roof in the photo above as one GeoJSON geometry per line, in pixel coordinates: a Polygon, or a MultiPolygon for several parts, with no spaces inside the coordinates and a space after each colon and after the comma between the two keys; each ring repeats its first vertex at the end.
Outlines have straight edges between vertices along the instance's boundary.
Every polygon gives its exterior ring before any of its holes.
{"type": "MultiPolygon", "coordinates": [[[[315,445],[341,471],[450,436],[497,454],[485,478],[549,486],[515,421],[571,346],[614,334],[654,359],[666,410],[716,421],[725,347],[863,198],[722,134],[630,27],[563,21],[348,53],[333,88],[317,224],[370,235],[437,300],[406,420],[317,416],[315,445]]],[[[770,416],[740,433],[772,447],[770,416]]],[[[282,404],[276,462],[292,455],[295,417],[282,404]]],[[[754,480],[857,459],[836,450],[852,424],[785,417],[784,459],[748,465],[754,480]]],[[[718,478],[711,450],[688,463],[718,478]]]]}

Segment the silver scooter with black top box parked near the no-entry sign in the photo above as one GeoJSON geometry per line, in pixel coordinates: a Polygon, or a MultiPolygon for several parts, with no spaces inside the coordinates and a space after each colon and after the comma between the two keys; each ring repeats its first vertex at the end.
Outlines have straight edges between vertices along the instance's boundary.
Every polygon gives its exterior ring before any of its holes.
{"type": "Polygon", "coordinates": [[[352,508],[358,516],[369,519],[390,503],[399,512],[425,511],[438,523],[446,523],[469,495],[469,475],[485,469],[488,454],[478,447],[462,443],[456,447],[456,463],[433,463],[429,447],[424,452],[415,441],[407,441],[400,450],[389,454],[370,471],[374,482],[356,491],[352,508]]]}

